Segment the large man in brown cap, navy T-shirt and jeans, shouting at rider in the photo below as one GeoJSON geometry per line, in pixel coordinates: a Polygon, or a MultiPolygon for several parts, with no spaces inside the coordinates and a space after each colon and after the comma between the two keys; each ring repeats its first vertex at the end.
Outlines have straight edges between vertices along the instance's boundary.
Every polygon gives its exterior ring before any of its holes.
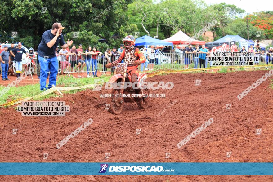
{"type": "Polygon", "coordinates": [[[51,85],[56,85],[56,76],[58,73],[58,60],[55,54],[55,50],[60,43],[63,49],[71,46],[73,41],[67,40],[65,44],[64,36],[62,30],[65,27],[62,27],[60,23],[54,23],[51,30],[47,30],[42,35],[41,43],[38,46],[38,58],[41,66],[41,75],[40,75],[40,89],[47,90],[50,89],[51,85]],[[48,66],[50,65],[50,70],[48,66]],[[49,84],[46,87],[47,82],[47,72],[50,71],[49,84]]]}

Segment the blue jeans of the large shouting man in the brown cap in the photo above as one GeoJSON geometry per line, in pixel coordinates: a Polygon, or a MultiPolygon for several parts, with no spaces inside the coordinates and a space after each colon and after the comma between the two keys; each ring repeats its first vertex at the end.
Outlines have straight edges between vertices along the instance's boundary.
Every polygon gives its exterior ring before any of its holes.
{"type": "Polygon", "coordinates": [[[56,76],[58,73],[59,63],[57,57],[44,59],[43,57],[39,57],[41,74],[40,74],[40,90],[50,89],[52,86],[56,86],[56,76]],[[50,71],[49,75],[49,83],[47,84],[47,72],[50,71]]]}

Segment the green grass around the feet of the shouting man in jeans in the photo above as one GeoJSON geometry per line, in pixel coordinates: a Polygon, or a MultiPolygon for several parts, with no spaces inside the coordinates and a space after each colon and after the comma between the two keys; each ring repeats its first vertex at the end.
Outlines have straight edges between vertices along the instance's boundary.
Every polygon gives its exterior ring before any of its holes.
{"type": "MultiPolygon", "coordinates": [[[[72,78],[69,76],[59,76],[57,82],[56,82],[56,87],[79,87],[83,85],[88,85],[88,84],[94,84],[95,79],[103,79],[105,82],[108,82],[110,75],[103,75],[100,78],[72,78]]],[[[19,83],[20,84],[20,83],[19,83]]],[[[5,87],[0,86],[0,91],[2,91],[5,87]]],[[[64,91],[63,93],[70,93],[74,94],[77,93],[78,91],[82,91],[85,89],[79,89],[79,90],[70,90],[70,91],[64,91]]],[[[42,93],[40,91],[40,84],[34,84],[34,85],[24,85],[24,86],[19,86],[19,87],[10,87],[10,89],[4,93],[0,97],[0,104],[5,104],[7,100],[16,100],[19,98],[24,98],[24,97],[32,97],[34,95],[38,95],[42,93]]],[[[1,95],[1,94],[0,94],[1,95]]],[[[43,100],[45,98],[50,98],[50,97],[60,97],[60,95],[51,93],[48,95],[45,95],[44,97],[39,98],[38,100],[43,100]]]]}

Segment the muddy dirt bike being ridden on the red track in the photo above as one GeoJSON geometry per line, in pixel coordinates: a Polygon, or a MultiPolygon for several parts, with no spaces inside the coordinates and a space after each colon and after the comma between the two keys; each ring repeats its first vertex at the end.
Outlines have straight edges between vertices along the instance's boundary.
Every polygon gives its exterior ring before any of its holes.
{"type": "MultiPolygon", "coordinates": [[[[141,94],[146,95],[144,97],[120,97],[120,95],[125,94],[140,94],[137,93],[137,90],[132,89],[132,87],[123,88],[124,82],[131,82],[131,75],[126,73],[127,64],[119,63],[116,64],[116,74],[112,76],[109,80],[110,83],[121,83],[121,89],[116,89],[113,87],[110,89],[109,94],[113,97],[109,97],[107,100],[107,104],[109,104],[109,112],[112,114],[120,114],[123,111],[125,102],[135,102],[137,101],[137,105],[140,109],[147,109],[150,103],[150,90],[148,88],[141,89],[141,94]]],[[[146,80],[148,73],[139,73],[138,82],[140,84],[144,84],[143,82],[146,80]]]]}

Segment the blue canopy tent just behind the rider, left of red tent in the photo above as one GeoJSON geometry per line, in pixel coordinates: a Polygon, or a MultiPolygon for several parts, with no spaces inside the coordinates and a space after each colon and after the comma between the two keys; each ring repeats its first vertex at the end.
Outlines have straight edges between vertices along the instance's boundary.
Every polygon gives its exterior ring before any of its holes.
{"type": "Polygon", "coordinates": [[[148,47],[149,45],[160,45],[160,46],[173,46],[172,42],[165,42],[156,38],[149,37],[144,35],[140,38],[136,39],[135,46],[145,46],[148,47]]]}

